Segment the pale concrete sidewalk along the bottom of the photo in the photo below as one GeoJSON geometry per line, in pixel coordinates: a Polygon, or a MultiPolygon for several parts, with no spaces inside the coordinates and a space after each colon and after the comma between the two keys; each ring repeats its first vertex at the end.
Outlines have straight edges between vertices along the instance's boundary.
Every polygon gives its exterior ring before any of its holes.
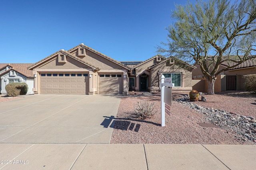
{"type": "Polygon", "coordinates": [[[0,144],[1,170],[248,170],[256,145],[0,144]]]}

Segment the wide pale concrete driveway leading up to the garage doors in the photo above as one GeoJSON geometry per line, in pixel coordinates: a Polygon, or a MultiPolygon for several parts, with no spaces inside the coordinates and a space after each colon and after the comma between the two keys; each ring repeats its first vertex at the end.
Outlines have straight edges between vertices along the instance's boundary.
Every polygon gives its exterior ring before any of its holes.
{"type": "Polygon", "coordinates": [[[0,103],[0,143],[110,143],[120,96],[30,95],[0,103]]]}

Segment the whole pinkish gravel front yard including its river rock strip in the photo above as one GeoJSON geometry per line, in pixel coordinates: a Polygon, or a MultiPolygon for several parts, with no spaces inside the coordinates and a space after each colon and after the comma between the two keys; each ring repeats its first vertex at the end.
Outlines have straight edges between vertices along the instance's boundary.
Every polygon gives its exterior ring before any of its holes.
{"type": "Polygon", "coordinates": [[[160,93],[143,95],[134,92],[123,96],[110,143],[256,144],[255,132],[250,129],[248,131],[249,127],[253,127],[253,122],[247,126],[244,122],[246,120],[238,116],[256,117],[255,95],[233,91],[204,96],[206,102],[192,103],[182,101],[186,94],[174,93],[171,115],[166,114],[165,127],[160,125],[160,93]],[[141,100],[155,103],[156,114],[151,119],[140,120],[134,117],[135,105],[141,100]],[[231,117],[235,120],[228,115],[234,115],[231,117]],[[202,127],[198,123],[213,123],[218,128],[202,127]],[[247,129],[238,130],[244,127],[247,129]]]}

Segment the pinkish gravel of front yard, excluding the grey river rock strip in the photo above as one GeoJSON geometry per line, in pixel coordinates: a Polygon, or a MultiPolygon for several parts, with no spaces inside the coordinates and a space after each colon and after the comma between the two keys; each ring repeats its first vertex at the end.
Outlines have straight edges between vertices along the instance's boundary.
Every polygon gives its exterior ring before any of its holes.
{"type": "MultiPolygon", "coordinates": [[[[198,123],[210,123],[210,121],[206,119],[207,116],[203,113],[200,113],[198,109],[191,109],[185,104],[182,104],[182,102],[176,101],[177,99],[183,98],[185,95],[186,94],[182,94],[180,92],[172,94],[173,102],[171,106],[171,115],[166,114],[165,127],[161,127],[160,93],[153,93],[149,96],[144,95],[143,93],[138,94],[136,92],[136,94],[122,96],[118,108],[118,113],[114,118],[115,123],[110,143],[205,145],[255,144],[255,142],[252,140],[244,140],[244,136],[239,135],[235,131],[232,131],[231,128],[224,129],[221,127],[214,128],[200,126],[198,123]],[[156,103],[154,107],[157,113],[151,119],[140,120],[132,116],[135,109],[134,106],[137,102],[142,100],[156,103]]],[[[207,99],[208,102],[199,103],[210,105],[213,108],[220,108],[220,103],[218,103],[219,101],[227,100],[233,102],[230,100],[230,97],[227,96],[210,95],[207,97],[207,99]],[[211,98],[214,102],[211,101],[211,98]]],[[[238,100],[238,102],[240,102],[239,98],[234,98],[234,100],[238,100]]],[[[247,106],[252,106],[251,102],[254,100],[256,100],[256,98],[250,98],[249,102],[246,99],[244,100],[244,104],[247,104],[247,106]]],[[[229,108],[229,105],[227,107],[229,108]]],[[[230,107],[233,106],[230,105],[230,107]]],[[[248,113],[252,113],[254,112],[252,111],[254,107],[256,107],[256,105],[253,105],[252,108],[246,109],[246,111],[248,113]]],[[[230,109],[232,110],[232,108],[230,109]]],[[[248,116],[248,114],[246,116],[248,116]]]]}

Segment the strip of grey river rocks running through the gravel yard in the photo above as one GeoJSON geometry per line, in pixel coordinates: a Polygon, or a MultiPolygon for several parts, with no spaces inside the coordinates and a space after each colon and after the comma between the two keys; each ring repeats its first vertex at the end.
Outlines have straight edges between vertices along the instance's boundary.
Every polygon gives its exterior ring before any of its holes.
{"type": "Polygon", "coordinates": [[[205,108],[190,102],[188,95],[176,101],[204,114],[206,122],[237,133],[236,137],[241,140],[251,140],[256,143],[256,120],[254,117],[246,117],[214,108],[205,108]]]}

